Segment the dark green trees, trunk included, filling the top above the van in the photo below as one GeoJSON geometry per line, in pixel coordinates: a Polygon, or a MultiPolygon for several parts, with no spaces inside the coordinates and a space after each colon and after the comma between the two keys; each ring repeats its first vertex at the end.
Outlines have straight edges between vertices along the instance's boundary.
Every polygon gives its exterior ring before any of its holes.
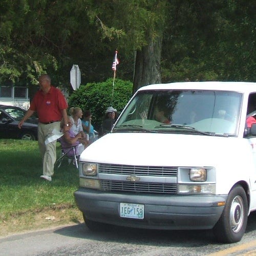
{"type": "Polygon", "coordinates": [[[255,80],[255,1],[2,0],[0,84],[255,80]],[[135,65],[136,64],[136,65],[135,65]]]}

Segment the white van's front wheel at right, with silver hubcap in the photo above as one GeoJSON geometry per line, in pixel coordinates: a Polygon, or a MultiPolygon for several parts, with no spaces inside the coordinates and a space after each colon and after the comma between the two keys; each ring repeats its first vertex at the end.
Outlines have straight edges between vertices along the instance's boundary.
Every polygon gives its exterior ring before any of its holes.
{"type": "Polygon", "coordinates": [[[214,226],[219,242],[239,242],[245,232],[248,219],[248,202],[242,186],[237,185],[230,191],[221,218],[214,226]]]}

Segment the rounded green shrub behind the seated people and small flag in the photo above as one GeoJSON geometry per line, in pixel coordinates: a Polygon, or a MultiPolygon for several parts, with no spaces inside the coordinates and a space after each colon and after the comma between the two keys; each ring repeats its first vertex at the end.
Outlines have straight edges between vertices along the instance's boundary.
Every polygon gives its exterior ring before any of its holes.
{"type": "Polygon", "coordinates": [[[98,130],[106,108],[113,106],[120,113],[131,98],[132,90],[133,83],[131,81],[115,79],[112,97],[113,78],[109,78],[105,82],[87,83],[81,85],[70,95],[69,108],[79,106],[82,111],[90,110],[93,115],[92,124],[98,130]]]}

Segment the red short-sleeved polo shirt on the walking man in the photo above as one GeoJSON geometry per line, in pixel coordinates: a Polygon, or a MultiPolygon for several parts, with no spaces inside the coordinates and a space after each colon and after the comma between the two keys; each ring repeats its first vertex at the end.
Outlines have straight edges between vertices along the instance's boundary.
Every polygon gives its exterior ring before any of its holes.
{"type": "Polygon", "coordinates": [[[60,111],[67,108],[68,104],[63,94],[52,86],[47,94],[41,90],[36,92],[29,109],[37,113],[39,122],[47,123],[60,121],[62,118],[60,111]]]}

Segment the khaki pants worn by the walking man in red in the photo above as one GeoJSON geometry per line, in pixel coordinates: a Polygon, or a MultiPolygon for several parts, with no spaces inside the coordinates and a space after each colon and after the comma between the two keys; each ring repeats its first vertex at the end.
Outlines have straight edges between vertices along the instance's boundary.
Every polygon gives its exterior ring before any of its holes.
{"type": "Polygon", "coordinates": [[[45,144],[45,140],[53,135],[52,131],[60,130],[60,122],[50,124],[38,123],[38,145],[42,156],[42,171],[44,175],[52,176],[56,161],[56,140],[45,144]]]}

